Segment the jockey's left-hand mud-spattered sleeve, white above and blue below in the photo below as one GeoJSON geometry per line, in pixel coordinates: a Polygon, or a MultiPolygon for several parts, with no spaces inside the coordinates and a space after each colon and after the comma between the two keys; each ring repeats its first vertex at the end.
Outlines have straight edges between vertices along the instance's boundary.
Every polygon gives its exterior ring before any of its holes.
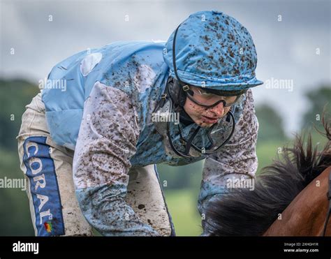
{"type": "Polygon", "coordinates": [[[101,235],[159,235],[124,200],[138,121],[130,98],[115,87],[97,82],[84,103],[73,177],[82,213],[101,235]]]}

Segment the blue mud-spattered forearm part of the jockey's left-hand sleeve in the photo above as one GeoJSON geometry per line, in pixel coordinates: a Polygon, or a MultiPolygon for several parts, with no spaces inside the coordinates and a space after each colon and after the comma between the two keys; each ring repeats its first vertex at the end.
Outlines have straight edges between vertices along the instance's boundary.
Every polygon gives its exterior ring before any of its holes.
{"type": "Polygon", "coordinates": [[[105,236],[157,236],[156,230],[142,223],[124,200],[126,186],[114,184],[76,190],[87,221],[105,236]]]}

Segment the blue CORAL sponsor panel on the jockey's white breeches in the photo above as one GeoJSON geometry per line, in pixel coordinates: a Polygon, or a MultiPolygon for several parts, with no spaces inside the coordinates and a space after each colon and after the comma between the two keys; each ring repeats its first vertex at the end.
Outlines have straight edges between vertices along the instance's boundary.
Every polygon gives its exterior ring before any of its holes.
{"type": "Polygon", "coordinates": [[[64,235],[61,200],[54,161],[46,137],[30,137],[24,142],[24,164],[36,213],[38,236],[64,235]]]}

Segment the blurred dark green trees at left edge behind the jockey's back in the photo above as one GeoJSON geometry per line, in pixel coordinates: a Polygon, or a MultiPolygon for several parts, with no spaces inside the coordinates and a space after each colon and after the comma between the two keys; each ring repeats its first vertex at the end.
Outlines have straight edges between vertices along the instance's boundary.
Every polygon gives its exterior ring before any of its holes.
{"type": "MultiPolygon", "coordinates": [[[[24,178],[17,154],[17,140],[25,105],[39,89],[26,80],[0,79],[0,178],[24,178]]],[[[19,188],[0,189],[0,235],[34,235],[29,201],[19,188]]]]}

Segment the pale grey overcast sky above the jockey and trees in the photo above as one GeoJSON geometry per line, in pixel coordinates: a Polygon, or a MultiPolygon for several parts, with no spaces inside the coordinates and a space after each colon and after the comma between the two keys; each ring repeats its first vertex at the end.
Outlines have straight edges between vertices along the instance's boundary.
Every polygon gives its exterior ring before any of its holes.
{"type": "Polygon", "coordinates": [[[76,52],[116,40],[167,40],[191,13],[220,10],[251,33],[258,52],[257,77],[267,82],[253,89],[256,105],[272,105],[288,135],[299,129],[301,115],[309,109],[304,93],[331,81],[330,1],[0,2],[1,77],[37,84],[76,52]],[[288,89],[270,88],[279,80],[288,89]]]}

